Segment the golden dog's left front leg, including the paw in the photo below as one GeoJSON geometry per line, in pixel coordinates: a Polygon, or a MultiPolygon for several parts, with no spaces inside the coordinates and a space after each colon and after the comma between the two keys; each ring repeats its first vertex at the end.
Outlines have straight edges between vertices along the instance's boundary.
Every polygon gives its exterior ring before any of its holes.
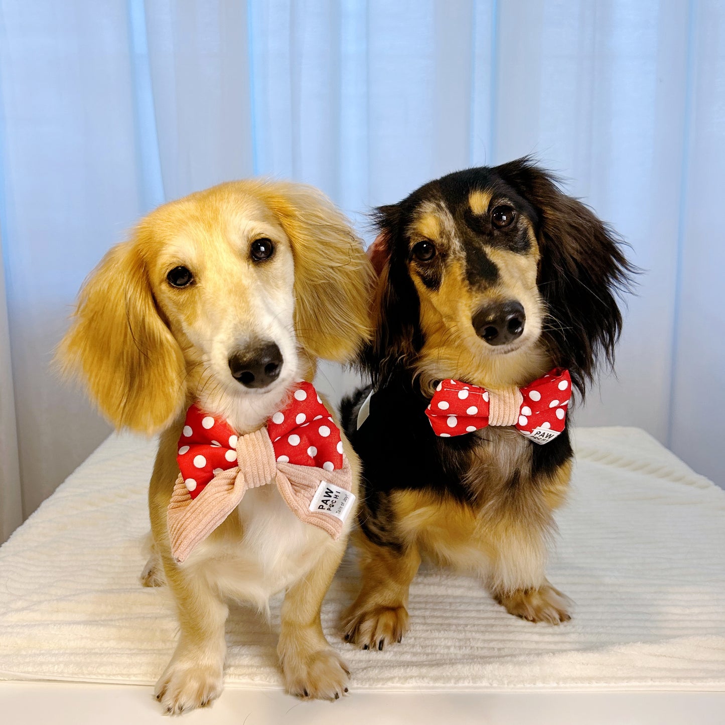
{"type": "Polygon", "coordinates": [[[170,715],[204,707],[221,695],[228,607],[203,573],[185,572],[165,560],[166,579],[178,607],[178,645],[154,689],[170,715]]]}

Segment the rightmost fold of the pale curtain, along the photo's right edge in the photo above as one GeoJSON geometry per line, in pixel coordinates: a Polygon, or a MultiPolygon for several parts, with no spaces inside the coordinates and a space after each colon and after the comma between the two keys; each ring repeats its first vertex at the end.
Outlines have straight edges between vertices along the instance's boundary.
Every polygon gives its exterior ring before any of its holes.
{"type": "Polygon", "coordinates": [[[719,424],[725,407],[725,234],[716,211],[723,204],[725,162],[725,5],[692,4],[687,33],[667,444],[725,486],[719,424]]]}

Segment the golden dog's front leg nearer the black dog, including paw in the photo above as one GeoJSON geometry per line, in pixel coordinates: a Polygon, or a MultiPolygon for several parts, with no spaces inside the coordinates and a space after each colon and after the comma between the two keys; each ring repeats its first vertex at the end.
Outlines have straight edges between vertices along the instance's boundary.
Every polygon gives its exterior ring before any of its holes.
{"type": "Polygon", "coordinates": [[[322,602],[346,543],[328,544],[312,570],[290,587],[284,597],[277,652],[291,695],[337,700],[347,692],[349,670],[325,639],[320,622],[322,602]]]}

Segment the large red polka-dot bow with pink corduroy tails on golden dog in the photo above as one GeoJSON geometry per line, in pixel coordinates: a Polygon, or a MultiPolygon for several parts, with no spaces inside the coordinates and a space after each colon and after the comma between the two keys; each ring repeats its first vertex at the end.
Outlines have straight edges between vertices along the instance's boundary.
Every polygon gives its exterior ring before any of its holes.
{"type": "Polygon", "coordinates": [[[171,550],[182,562],[239,505],[247,489],[275,483],[297,518],[337,539],[355,502],[339,428],[315,388],[302,381],[265,428],[239,436],[192,405],[167,511],[171,550]]]}

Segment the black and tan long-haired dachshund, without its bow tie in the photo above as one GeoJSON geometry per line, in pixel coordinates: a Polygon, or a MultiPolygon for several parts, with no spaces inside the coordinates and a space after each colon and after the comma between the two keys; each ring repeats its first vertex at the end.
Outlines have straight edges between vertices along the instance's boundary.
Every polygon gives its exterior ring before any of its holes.
{"type": "Polygon", "coordinates": [[[400,641],[421,556],[479,576],[512,614],[565,621],[566,597],[544,570],[571,473],[568,431],[544,445],[511,427],[438,438],[424,410],[444,378],[496,390],[555,366],[583,396],[597,362],[613,362],[616,296],[633,271],[616,234],[530,159],[431,181],[381,207],[376,223],[377,331],[363,355],[371,386],[343,402],[365,486],[363,586],[345,638],[378,649],[400,641]],[[497,228],[502,207],[513,221],[497,228]],[[435,247],[430,260],[416,257],[422,243],[435,247]],[[525,310],[523,334],[492,347],[473,315],[508,300],[525,310]]]}

